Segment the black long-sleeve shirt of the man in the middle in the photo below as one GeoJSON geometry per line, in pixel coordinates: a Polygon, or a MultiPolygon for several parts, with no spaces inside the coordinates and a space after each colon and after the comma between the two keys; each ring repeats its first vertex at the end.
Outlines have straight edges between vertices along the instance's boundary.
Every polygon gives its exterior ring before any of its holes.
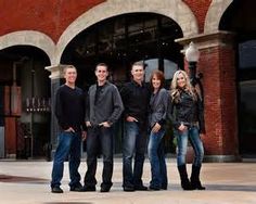
{"type": "Polygon", "coordinates": [[[125,106],[125,118],[132,116],[139,123],[148,122],[151,92],[145,84],[140,86],[135,80],[127,82],[120,90],[120,95],[125,106]]]}

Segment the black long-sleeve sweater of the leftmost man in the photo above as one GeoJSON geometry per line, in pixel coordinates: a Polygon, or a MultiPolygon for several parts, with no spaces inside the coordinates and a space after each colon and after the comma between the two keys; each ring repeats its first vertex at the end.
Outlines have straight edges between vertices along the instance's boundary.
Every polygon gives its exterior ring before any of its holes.
{"type": "Polygon", "coordinates": [[[84,91],[75,87],[74,89],[63,85],[55,94],[55,116],[61,129],[72,127],[75,131],[85,128],[85,94],[84,91]]]}

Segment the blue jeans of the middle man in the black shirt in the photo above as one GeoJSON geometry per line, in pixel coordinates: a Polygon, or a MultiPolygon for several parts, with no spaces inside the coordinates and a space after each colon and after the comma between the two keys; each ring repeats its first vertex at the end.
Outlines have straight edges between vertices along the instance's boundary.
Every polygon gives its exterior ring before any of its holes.
{"type": "Polygon", "coordinates": [[[146,127],[136,122],[125,122],[123,138],[123,187],[142,186],[144,153],[146,148],[146,127]],[[132,170],[132,157],[135,166],[132,170]]]}

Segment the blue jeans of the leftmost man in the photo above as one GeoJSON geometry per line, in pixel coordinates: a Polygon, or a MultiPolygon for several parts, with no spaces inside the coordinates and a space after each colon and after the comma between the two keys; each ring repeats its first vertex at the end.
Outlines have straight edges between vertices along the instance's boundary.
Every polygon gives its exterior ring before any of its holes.
{"type": "Polygon", "coordinates": [[[59,144],[53,160],[51,187],[60,187],[63,178],[64,162],[69,155],[69,187],[80,184],[81,133],[62,131],[59,135],[59,144]]]}

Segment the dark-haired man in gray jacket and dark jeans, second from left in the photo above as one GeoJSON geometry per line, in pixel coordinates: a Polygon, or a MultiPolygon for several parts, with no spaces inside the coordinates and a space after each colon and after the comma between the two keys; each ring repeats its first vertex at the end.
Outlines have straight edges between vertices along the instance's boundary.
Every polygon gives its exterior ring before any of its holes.
{"type": "Polygon", "coordinates": [[[97,84],[88,92],[86,125],[87,173],[82,191],[95,191],[97,156],[99,148],[103,154],[103,175],[101,192],[108,192],[113,175],[113,124],[124,110],[120,94],[115,85],[107,81],[107,65],[100,63],[95,67],[97,84]]]}

